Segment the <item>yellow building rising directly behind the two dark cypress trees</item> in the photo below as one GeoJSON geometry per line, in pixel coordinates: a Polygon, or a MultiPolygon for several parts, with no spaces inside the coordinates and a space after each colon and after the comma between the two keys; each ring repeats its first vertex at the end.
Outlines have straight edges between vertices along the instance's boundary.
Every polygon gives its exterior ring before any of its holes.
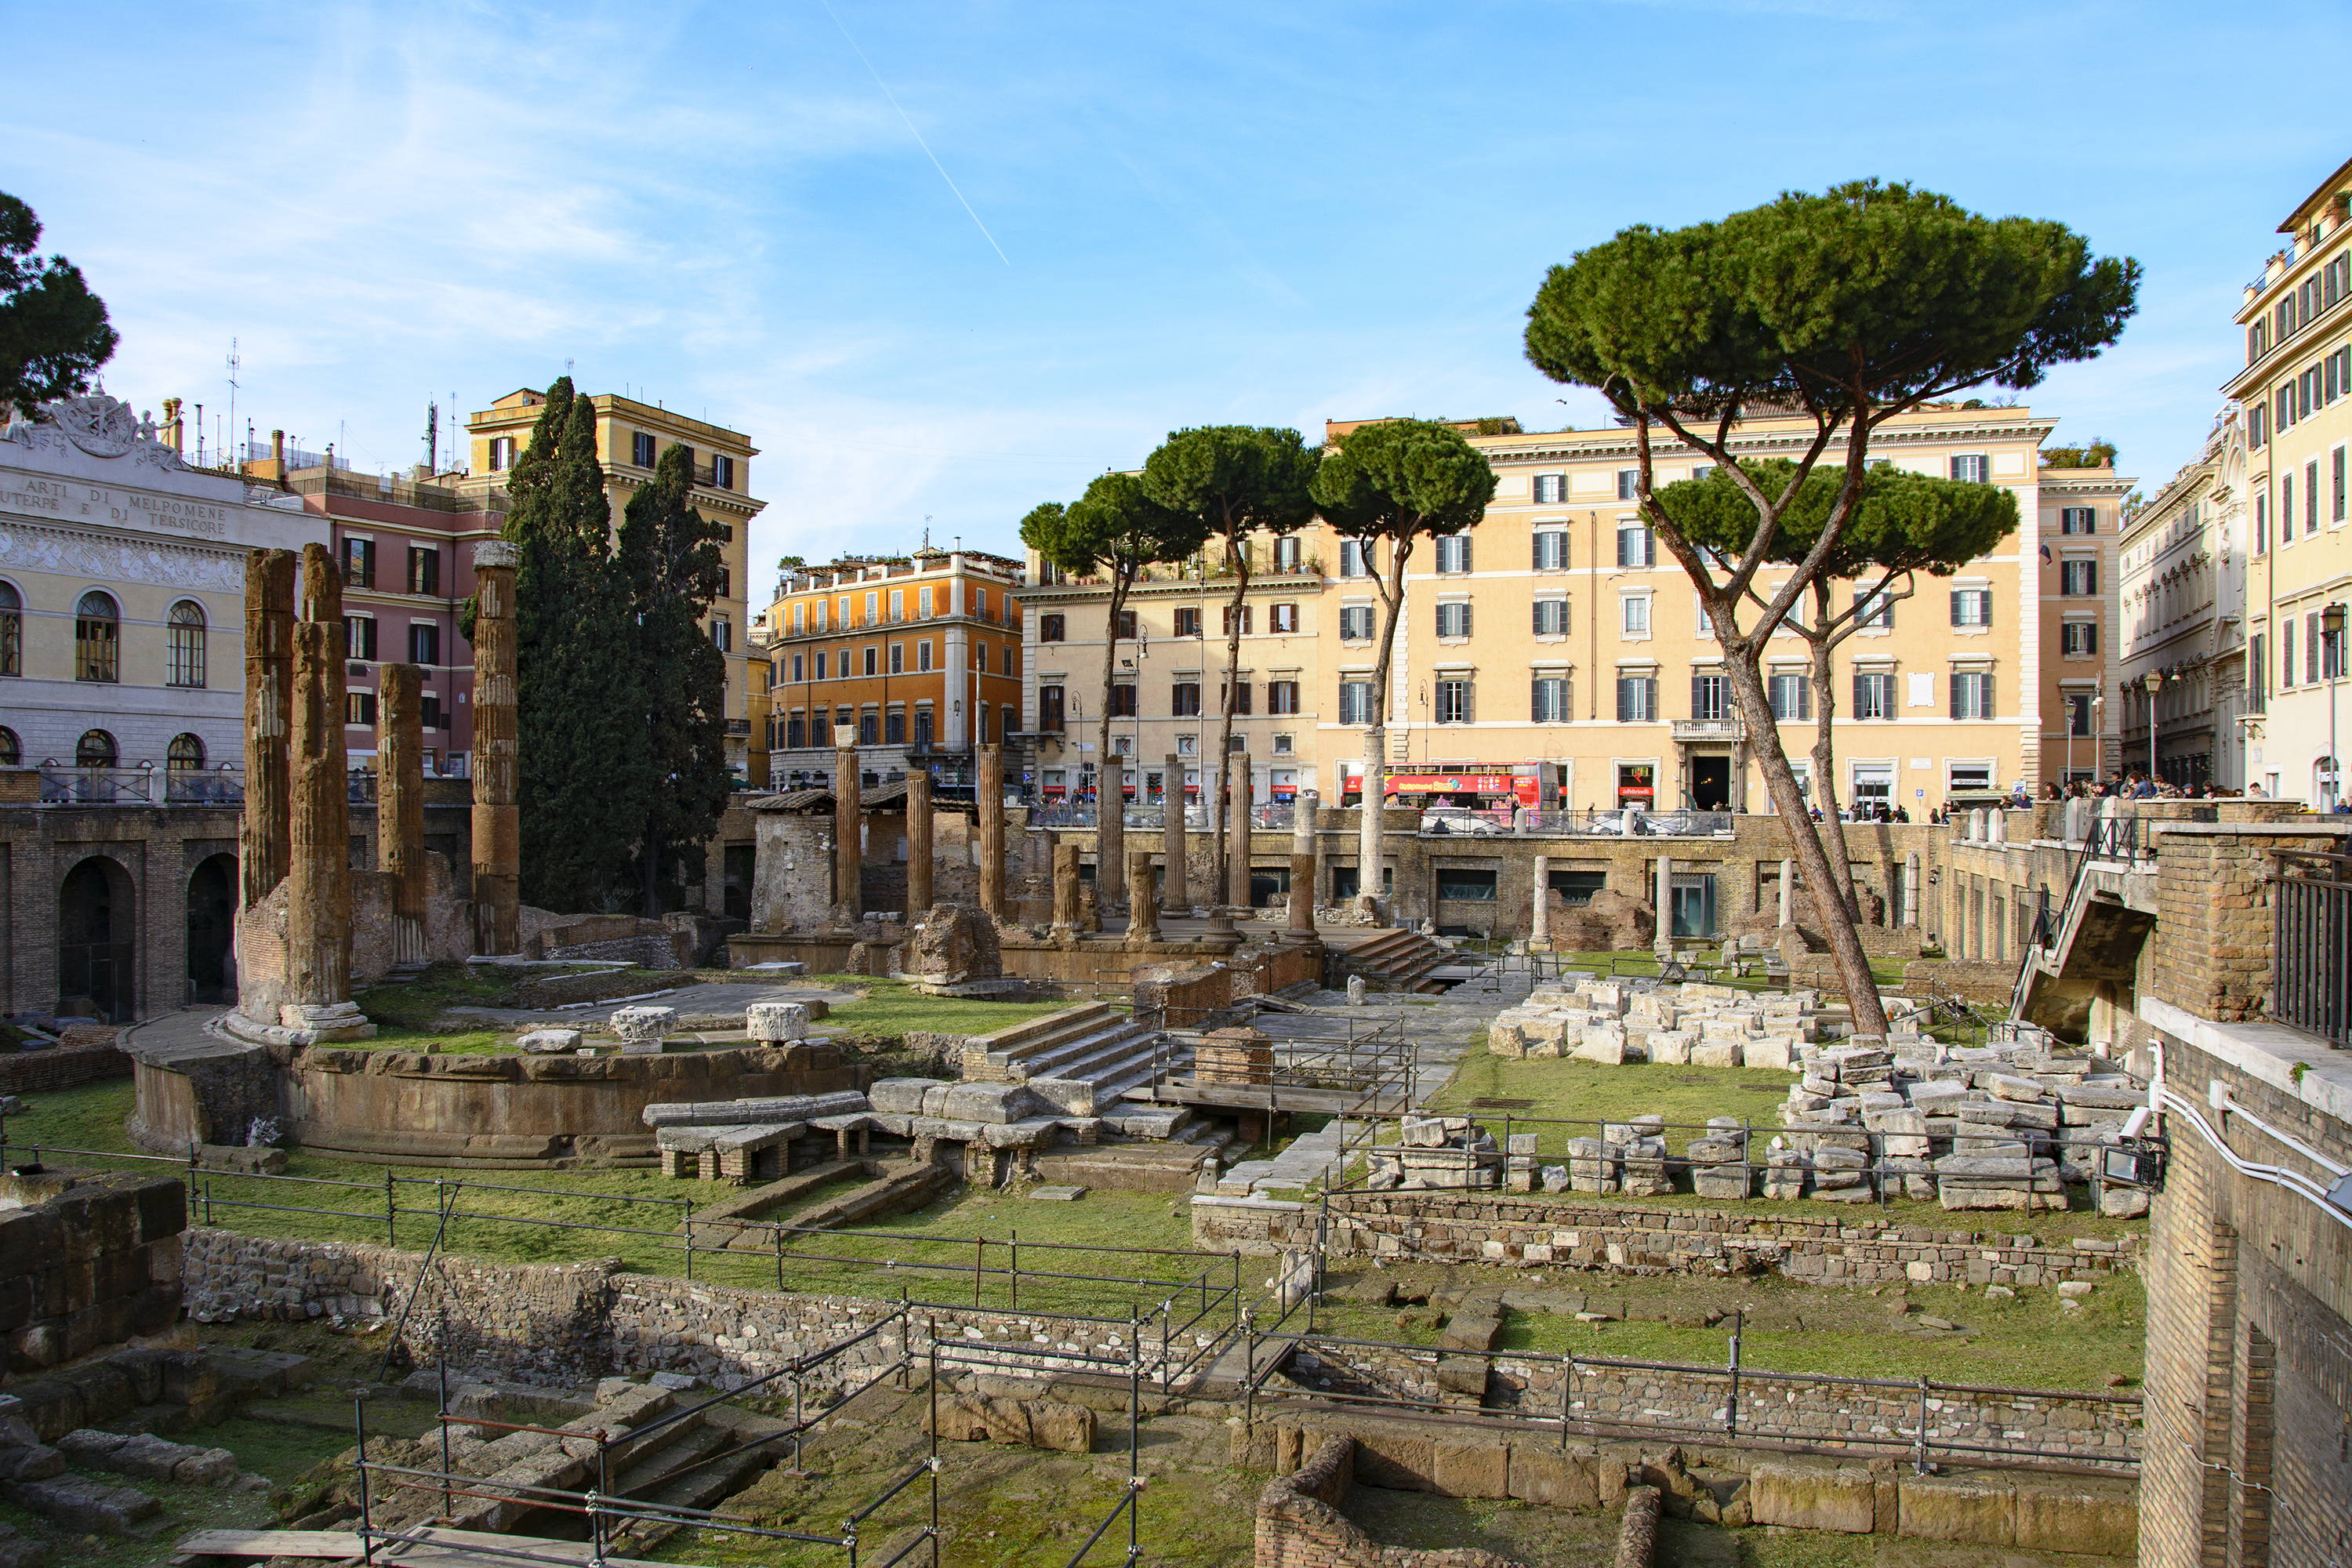
{"type": "MultiPolygon", "coordinates": [[[[466,421],[473,437],[473,475],[459,484],[461,494],[487,510],[506,510],[506,473],[532,444],[532,425],[539,421],[543,402],[543,393],[520,388],[466,421]]],[[[684,444],[694,458],[694,510],[724,524],[720,597],[710,604],[703,628],[727,656],[727,762],[743,771],[750,750],[750,712],[746,708],[750,689],[750,644],[746,637],[750,520],[767,508],[767,501],[750,494],[750,461],[760,456],[760,449],[739,430],[687,418],[661,404],[614,397],[612,393],[590,395],[588,402],[595,407],[597,461],[604,465],[604,494],[612,496],[616,529],[621,527],[621,508],[628,505],[640,484],[652,482],[654,463],[673,444],[684,444]]]]}

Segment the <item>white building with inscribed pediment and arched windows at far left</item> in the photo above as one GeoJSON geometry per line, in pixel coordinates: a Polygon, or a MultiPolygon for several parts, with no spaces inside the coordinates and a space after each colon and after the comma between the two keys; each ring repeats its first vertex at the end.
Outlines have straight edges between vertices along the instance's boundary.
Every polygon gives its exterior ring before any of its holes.
{"type": "Polygon", "coordinates": [[[0,430],[0,766],[162,804],[245,755],[245,552],[325,543],[299,496],[181,461],[129,404],[0,430]]]}

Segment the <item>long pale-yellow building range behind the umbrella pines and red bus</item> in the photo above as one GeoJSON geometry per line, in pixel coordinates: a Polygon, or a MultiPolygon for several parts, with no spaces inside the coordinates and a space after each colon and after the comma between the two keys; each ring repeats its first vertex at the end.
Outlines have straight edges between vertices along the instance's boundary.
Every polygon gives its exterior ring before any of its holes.
{"type": "MultiPolygon", "coordinates": [[[[2065,776],[2067,743],[2074,771],[2112,766],[2117,715],[2089,698],[2114,651],[2114,531],[2131,480],[2112,468],[2044,468],[2039,449],[2053,430],[2053,418],[2023,407],[1943,404],[1875,437],[1875,461],[2013,489],[2020,531],[1947,581],[1922,578],[1912,597],[1837,649],[1839,802],[1922,816],[1952,795],[2018,783],[2039,792],[2065,776]],[[2079,736],[2077,724],[2086,726],[2079,736]]],[[[1806,435],[1802,421],[1762,418],[1733,444],[1750,456],[1792,456],[1806,435]]],[[[1406,567],[1388,693],[1385,766],[1406,776],[1397,792],[1456,792],[1430,776],[1479,773],[1458,795],[1526,802],[1519,780],[1541,778],[1545,806],[1769,809],[1698,595],[1632,501],[1632,433],[1470,442],[1494,463],[1498,491],[1475,529],[1421,541],[1406,567]]],[[[1658,482],[1700,465],[1675,444],[1653,456],[1658,482]]],[[[1249,708],[1235,724],[1254,795],[1357,795],[1378,632],[1367,564],[1322,524],[1256,541],[1254,562],[1261,576],[1249,590],[1237,682],[1249,708]]],[[[1040,562],[1030,569],[1040,574],[1040,562]]],[[[1766,590],[1778,581],[1762,576],[1766,590]]],[[[1134,703],[1120,719],[1134,719],[1127,750],[1141,766],[1122,769],[1136,776],[1141,799],[1164,788],[1155,773],[1167,752],[1214,745],[1228,590],[1230,578],[1204,578],[1200,564],[1167,569],[1136,590],[1117,658],[1138,677],[1134,696],[1115,701],[1134,703]]],[[[1839,585],[1837,602],[1853,592],[1839,585]]],[[[1033,635],[1044,637],[1051,614],[1061,649],[1033,649],[1030,724],[1061,712],[1075,726],[1070,703],[1080,693],[1098,703],[1105,604],[1101,585],[1035,590],[1033,635]]],[[[1806,752],[1820,693],[1799,637],[1773,644],[1766,677],[1783,715],[1780,743],[1811,790],[1806,752]]],[[[1087,762],[1080,755],[1080,769],[1087,762]]],[[[1195,785],[1195,769],[1185,773],[1195,785]]],[[[1075,788],[1077,778],[1056,783],[1075,788]]]]}

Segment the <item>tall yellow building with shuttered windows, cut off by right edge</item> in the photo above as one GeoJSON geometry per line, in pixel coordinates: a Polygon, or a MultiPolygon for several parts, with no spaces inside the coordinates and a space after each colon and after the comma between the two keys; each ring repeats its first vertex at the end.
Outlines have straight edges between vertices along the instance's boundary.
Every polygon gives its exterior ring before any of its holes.
{"type": "Polygon", "coordinates": [[[2286,214],[2288,242],[2246,284],[2246,780],[2321,811],[2343,795],[2338,686],[2352,599],[2352,162],[2286,214]]]}

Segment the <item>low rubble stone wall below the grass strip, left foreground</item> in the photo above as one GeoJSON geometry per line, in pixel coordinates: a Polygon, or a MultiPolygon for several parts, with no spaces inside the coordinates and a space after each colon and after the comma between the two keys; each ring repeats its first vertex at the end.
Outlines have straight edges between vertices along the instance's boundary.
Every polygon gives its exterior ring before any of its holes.
{"type": "MultiPolygon", "coordinates": [[[[386,1246],[287,1241],[198,1227],[188,1232],[188,1314],[207,1324],[397,1319],[423,1274],[423,1253],[386,1246]]],[[[430,1361],[447,1324],[452,1363],[503,1378],[572,1382],[614,1373],[687,1373],[724,1387],[729,1380],[771,1373],[793,1356],[870,1328],[894,1309],[894,1302],[847,1295],[739,1291],[623,1274],[619,1262],[503,1265],[445,1255],[426,1276],[423,1295],[402,1328],[402,1342],[416,1361],[430,1361]]],[[[929,1342],[931,1324],[938,1326],[943,1345],[955,1345],[950,1366],[960,1373],[995,1371],[1014,1378],[1051,1373],[1056,1361],[1042,1354],[1047,1347],[1073,1356],[1058,1363],[1063,1371],[1075,1368],[1077,1356],[1108,1361],[1127,1356],[1124,1324],[1070,1324],[1018,1312],[931,1307],[915,1312],[917,1356],[929,1342]],[[983,1366],[990,1342],[1021,1345],[1040,1354],[983,1366]]],[[[835,1385],[854,1385],[873,1368],[896,1363],[898,1352],[896,1333],[875,1335],[828,1361],[826,1375],[835,1385]]]]}

